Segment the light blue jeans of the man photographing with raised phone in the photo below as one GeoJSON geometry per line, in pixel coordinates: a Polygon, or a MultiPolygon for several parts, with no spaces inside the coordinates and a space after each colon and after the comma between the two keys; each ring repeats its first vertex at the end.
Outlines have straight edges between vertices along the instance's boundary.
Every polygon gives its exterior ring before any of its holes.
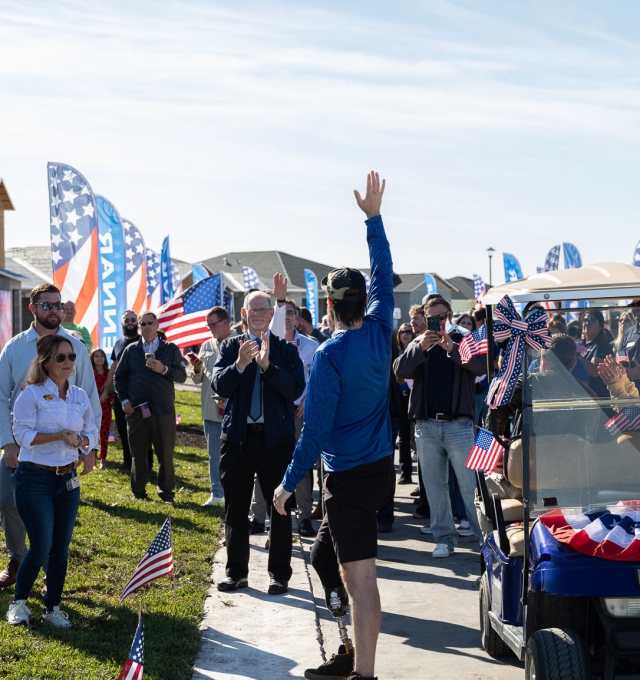
{"type": "Polygon", "coordinates": [[[473,420],[416,421],[416,449],[431,510],[431,531],[436,543],[458,544],[449,494],[449,463],[453,467],[471,529],[482,540],[475,507],[475,475],[464,466],[475,441],[473,420]]]}

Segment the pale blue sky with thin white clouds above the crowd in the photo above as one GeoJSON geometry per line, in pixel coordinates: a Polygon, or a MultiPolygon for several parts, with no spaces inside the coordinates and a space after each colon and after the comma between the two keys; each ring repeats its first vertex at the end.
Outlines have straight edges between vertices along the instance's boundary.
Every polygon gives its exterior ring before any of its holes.
{"type": "Polygon", "coordinates": [[[639,7],[0,0],[7,245],[48,242],[58,161],[175,257],[364,267],[375,168],[400,273],[487,278],[493,246],[528,275],[561,241],[630,262],[639,7]]]}

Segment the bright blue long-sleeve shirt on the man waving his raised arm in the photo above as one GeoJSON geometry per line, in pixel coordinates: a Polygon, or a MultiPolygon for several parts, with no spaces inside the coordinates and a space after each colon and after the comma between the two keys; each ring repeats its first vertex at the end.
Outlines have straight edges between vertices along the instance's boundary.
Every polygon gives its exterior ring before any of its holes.
{"type": "Polygon", "coordinates": [[[282,486],[294,491],[318,456],[327,472],[373,463],[392,453],[389,371],[393,263],[380,216],[366,221],[371,285],[360,328],[334,333],[316,351],[305,421],[282,486]]]}

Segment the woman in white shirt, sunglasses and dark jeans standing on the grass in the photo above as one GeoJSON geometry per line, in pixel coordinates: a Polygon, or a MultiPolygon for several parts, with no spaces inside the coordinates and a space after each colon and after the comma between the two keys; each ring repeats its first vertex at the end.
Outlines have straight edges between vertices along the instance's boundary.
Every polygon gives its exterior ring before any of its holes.
{"type": "Polygon", "coordinates": [[[27,598],[48,558],[43,620],[69,628],[60,601],[80,504],[76,465],[80,453],[81,474],[93,470],[98,428],[86,392],[69,384],[76,354],[68,337],[45,335],[38,339],[36,351],[13,408],[13,435],[20,447],[13,494],[29,536],[29,550],[18,569],[7,621],[29,623],[27,598]]]}

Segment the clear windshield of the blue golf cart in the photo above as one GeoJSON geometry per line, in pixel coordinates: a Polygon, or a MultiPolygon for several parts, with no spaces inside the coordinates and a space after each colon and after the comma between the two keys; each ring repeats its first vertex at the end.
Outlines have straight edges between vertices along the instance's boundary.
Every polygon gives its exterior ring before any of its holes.
{"type": "Polygon", "coordinates": [[[625,310],[603,309],[612,304],[604,300],[591,303],[591,309],[599,305],[598,313],[587,307],[567,309],[570,304],[558,302],[560,309],[549,310],[555,319],[551,332],[563,334],[555,341],[559,349],[529,348],[524,362],[523,445],[530,456],[536,513],[640,500],[640,397],[632,382],[612,396],[616,390],[596,368],[606,355],[615,358],[614,339],[625,310]],[[567,351],[571,332],[577,335],[573,358],[567,351]]]}

